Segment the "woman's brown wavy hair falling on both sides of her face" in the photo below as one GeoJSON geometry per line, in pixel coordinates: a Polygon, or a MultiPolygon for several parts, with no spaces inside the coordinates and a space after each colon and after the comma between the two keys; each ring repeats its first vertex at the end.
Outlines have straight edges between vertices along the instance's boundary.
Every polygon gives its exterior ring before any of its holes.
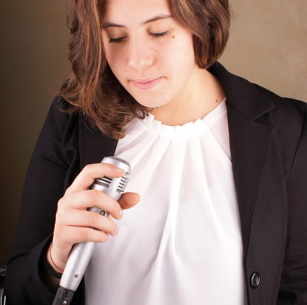
{"type": "MultiPolygon", "coordinates": [[[[229,37],[231,10],[228,0],[168,0],[174,19],[193,34],[193,48],[201,69],[208,69],[223,54],[229,37]]],[[[53,95],[72,106],[65,113],[82,113],[92,127],[108,138],[121,139],[124,126],[148,116],[120,84],[109,67],[102,39],[106,0],[68,0],[67,26],[72,73],[53,95]]]]}

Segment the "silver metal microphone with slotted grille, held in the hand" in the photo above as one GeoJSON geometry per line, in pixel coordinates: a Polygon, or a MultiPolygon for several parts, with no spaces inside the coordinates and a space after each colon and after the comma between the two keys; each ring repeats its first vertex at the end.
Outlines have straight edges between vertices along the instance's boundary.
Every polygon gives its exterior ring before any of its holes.
{"type": "MultiPolygon", "coordinates": [[[[128,184],[131,167],[128,162],[117,157],[105,157],[101,163],[113,164],[125,171],[121,178],[102,177],[95,179],[90,189],[97,189],[114,200],[118,201],[128,184]]],[[[87,208],[88,211],[99,213],[105,217],[109,216],[107,211],[99,207],[87,208]]],[[[95,228],[93,228],[95,229],[95,228]]],[[[95,229],[98,230],[98,229],[95,229]]],[[[69,255],[67,264],[65,265],[60,280],[60,287],[71,291],[76,291],[80,281],[84,275],[85,269],[90,262],[96,242],[83,242],[74,244],[69,255]]]]}

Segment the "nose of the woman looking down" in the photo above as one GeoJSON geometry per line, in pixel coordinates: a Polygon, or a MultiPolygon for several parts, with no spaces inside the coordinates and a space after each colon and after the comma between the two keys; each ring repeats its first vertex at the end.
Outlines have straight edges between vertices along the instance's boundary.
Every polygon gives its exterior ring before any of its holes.
{"type": "Polygon", "coordinates": [[[148,42],[142,37],[131,38],[128,42],[127,61],[128,66],[137,70],[151,66],[153,54],[150,52],[148,42]]]}

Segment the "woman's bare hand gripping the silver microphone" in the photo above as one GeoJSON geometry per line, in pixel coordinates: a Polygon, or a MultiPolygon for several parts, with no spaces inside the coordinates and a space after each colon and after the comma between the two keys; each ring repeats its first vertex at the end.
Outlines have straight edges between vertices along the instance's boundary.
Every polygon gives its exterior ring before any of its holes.
{"type": "Polygon", "coordinates": [[[59,268],[64,269],[74,244],[104,243],[109,239],[108,234],[116,235],[117,226],[112,221],[113,217],[120,220],[123,216],[121,210],[129,209],[139,202],[138,193],[123,193],[117,202],[99,190],[89,190],[96,178],[120,178],[124,175],[124,171],[118,173],[114,168],[116,166],[108,163],[86,165],[58,201],[51,256],[59,268]],[[87,211],[93,206],[109,212],[109,217],[87,211]]]}

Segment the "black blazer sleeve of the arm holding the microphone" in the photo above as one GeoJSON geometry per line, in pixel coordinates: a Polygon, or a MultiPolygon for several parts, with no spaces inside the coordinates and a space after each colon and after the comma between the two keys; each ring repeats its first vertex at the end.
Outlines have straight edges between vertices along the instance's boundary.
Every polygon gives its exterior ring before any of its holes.
{"type": "MultiPolygon", "coordinates": [[[[64,183],[72,161],[71,151],[63,149],[63,139],[65,135],[70,139],[68,133],[76,128],[70,122],[72,115],[61,112],[59,107],[68,108],[68,102],[56,97],[49,108],[27,170],[4,280],[10,305],[50,305],[55,297],[40,279],[41,259],[52,241],[57,203],[63,197],[64,183]]],[[[71,304],[76,303],[72,301],[71,304]]]]}

